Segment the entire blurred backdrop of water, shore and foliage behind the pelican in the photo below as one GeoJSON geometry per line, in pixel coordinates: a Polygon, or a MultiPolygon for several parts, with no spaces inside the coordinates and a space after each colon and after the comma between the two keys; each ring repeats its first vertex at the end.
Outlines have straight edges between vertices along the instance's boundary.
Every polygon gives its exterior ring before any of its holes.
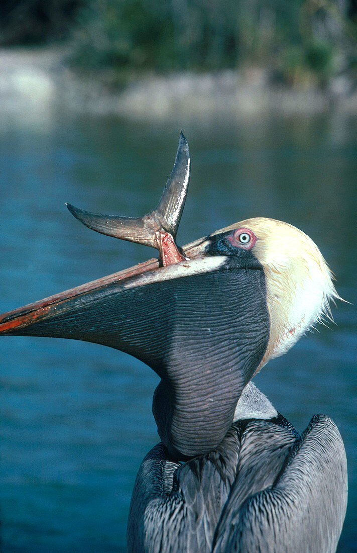
{"type": "MultiPolygon", "coordinates": [[[[298,431],[315,413],[339,427],[339,553],[357,551],[356,18],[354,0],[0,3],[0,311],[155,255],[64,204],[150,210],[182,130],[179,243],[246,217],[290,222],[351,302],[255,378],[298,431]]],[[[0,341],[3,551],[123,552],[158,378],[102,346],[0,341]]]]}

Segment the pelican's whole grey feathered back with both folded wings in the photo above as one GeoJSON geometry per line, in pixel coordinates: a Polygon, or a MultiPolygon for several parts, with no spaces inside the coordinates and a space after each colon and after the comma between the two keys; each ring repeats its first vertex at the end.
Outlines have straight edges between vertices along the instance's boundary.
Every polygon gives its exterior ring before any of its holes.
{"type": "Polygon", "coordinates": [[[332,553],[346,465],[324,415],[301,437],[281,415],[235,422],[215,450],[183,465],[159,444],[135,482],[128,553],[332,553]]]}

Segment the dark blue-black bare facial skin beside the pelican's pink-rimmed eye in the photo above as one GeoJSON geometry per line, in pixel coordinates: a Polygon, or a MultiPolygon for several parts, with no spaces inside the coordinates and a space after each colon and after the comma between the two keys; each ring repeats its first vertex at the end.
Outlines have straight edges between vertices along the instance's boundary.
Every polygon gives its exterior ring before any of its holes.
{"type": "Polygon", "coordinates": [[[233,246],[228,240],[228,237],[232,237],[234,232],[235,230],[209,236],[209,246],[206,250],[206,255],[227,255],[232,258],[229,261],[230,267],[263,270],[263,267],[251,250],[233,246]]]}

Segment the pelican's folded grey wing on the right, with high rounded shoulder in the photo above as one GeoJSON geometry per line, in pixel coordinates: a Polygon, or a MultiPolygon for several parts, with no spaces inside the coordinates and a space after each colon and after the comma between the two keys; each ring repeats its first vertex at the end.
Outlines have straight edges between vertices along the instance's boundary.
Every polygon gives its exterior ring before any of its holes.
{"type": "Polygon", "coordinates": [[[230,495],[214,553],[333,553],[347,507],[346,454],[334,422],[315,415],[275,482],[243,503],[239,495],[230,495]]]}

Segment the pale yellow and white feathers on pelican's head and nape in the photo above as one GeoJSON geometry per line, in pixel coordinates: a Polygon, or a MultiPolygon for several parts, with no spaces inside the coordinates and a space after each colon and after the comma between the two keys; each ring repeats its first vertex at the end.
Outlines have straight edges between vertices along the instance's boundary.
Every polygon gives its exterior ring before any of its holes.
{"type": "Polygon", "coordinates": [[[269,359],[286,353],[314,324],[332,319],[329,301],[341,298],[326,261],[307,234],[265,217],[246,219],[223,230],[239,227],[254,232],[257,241],[252,252],[266,276],[270,338],[260,370],[269,359]]]}

